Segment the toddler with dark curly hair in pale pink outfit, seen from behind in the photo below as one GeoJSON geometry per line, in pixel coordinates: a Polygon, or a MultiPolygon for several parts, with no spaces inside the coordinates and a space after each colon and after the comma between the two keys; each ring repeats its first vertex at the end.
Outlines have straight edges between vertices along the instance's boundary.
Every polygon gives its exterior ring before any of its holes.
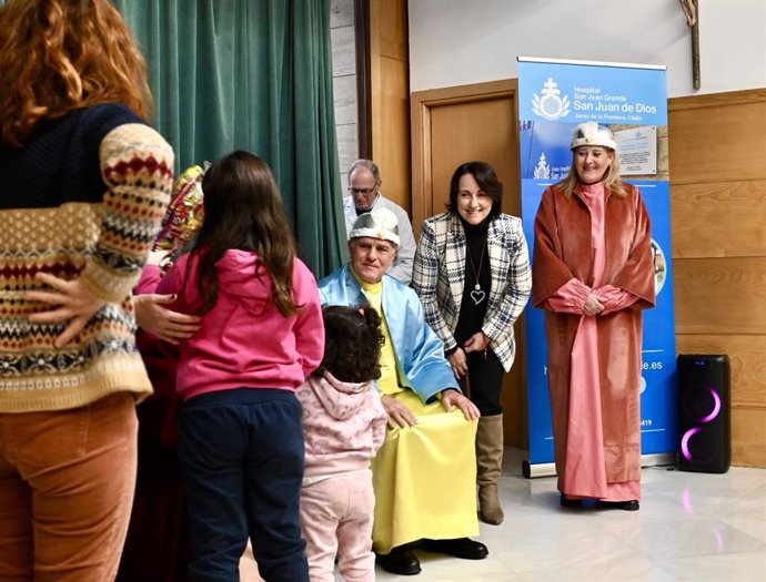
{"type": "Polygon", "coordinates": [[[371,308],[325,307],[324,359],[301,386],[305,472],[301,522],[312,582],[333,582],[335,555],[346,582],[375,580],[370,461],[383,445],[387,416],[372,386],[380,378],[383,335],[371,308]]]}

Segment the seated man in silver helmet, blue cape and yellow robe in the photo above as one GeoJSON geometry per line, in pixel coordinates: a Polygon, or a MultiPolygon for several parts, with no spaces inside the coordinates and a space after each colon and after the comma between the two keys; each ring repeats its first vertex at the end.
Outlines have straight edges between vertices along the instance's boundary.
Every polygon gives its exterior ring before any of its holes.
{"type": "Polygon", "coordinates": [[[396,256],[396,216],[360,215],[349,233],[351,263],[320,282],[324,305],[371,305],[382,319],[381,401],[385,442],[372,463],[373,548],[377,563],[417,574],[420,547],[468,560],[487,555],[476,517],[474,442],[478,409],[460,391],[444,346],[425,323],[415,292],[386,275],[396,256]]]}

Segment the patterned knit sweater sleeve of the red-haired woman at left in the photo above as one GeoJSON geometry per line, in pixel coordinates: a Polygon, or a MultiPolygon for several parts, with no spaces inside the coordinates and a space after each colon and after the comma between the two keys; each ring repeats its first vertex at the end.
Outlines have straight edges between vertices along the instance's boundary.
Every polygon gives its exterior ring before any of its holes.
{"type": "Polygon", "coordinates": [[[103,196],[99,241],[81,283],[97,297],[121,302],[141,276],[173,182],[173,150],[148,125],[110,131],[99,149],[103,196]]]}

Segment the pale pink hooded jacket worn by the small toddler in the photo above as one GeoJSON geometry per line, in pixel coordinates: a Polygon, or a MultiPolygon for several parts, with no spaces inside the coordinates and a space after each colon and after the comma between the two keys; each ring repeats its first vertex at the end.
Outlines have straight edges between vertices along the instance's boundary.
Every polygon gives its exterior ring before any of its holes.
{"type": "Polygon", "coordinates": [[[342,382],[325,371],[310,377],[295,396],[303,405],[304,484],[370,467],[387,420],[372,382],[342,382]]]}

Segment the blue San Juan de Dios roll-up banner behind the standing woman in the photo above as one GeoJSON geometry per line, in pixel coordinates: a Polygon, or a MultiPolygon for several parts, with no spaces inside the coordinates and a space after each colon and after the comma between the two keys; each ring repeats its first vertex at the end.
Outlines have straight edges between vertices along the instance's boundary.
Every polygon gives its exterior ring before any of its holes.
{"type": "MultiPolygon", "coordinates": [[[[627,144],[621,146],[621,163],[635,169],[632,174],[638,174],[629,182],[641,190],[652,218],[657,286],[656,307],[644,312],[642,452],[645,457],[675,453],[677,388],[671,201],[666,157],[665,167],[661,167],[656,144],[658,130],[667,135],[665,69],[520,58],[518,110],[522,221],[531,252],[534,218],[543,192],[570,171],[575,125],[598,122],[609,126],[621,144],[627,144]]],[[[530,459],[524,472],[527,477],[553,474],[544,314],[531,307],[526,310],[526,354],[530,459]]]]}

